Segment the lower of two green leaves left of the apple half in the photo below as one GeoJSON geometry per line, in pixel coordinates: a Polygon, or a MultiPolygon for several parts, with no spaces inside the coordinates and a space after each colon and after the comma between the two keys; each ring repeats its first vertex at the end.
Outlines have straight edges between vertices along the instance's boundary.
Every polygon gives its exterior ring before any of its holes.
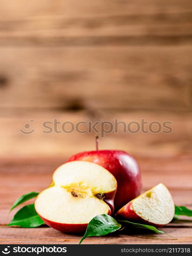
{"type": "Polygon", "coordinates": [[[18,210],[7,226],[39,227],[42,224],[44,222],[38,216],[34,204],[29,204],[18,210]]]}

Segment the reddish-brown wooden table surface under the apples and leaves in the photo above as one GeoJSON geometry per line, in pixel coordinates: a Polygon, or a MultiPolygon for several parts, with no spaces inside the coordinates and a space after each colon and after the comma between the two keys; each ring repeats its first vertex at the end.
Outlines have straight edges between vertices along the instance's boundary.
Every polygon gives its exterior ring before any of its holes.
{"type": "MultiPolygon", "coordinates": [[[[160,182],[169,187],[177,205],[192,209],[191,155],[173,157],[138,156],[142,171],[143,190],[160,182]]],[[[4,159],[0,162],[0,243],[2,244],[78,244],[81,236],[61,233],[50,227],[19,228],[6,227],[17,209],[9,214],[13,202],[29,191],[41,191],[49,185],[54,169],[63,163],[63,159],[4,159]]],[[[33,201],[33,200],[31,200],[33,201]]],[[[86,239],[84,244],[191,244],[192,219],[172,222],[162,228],[165,234],[114,233],[105,237],[86,239]]]]}

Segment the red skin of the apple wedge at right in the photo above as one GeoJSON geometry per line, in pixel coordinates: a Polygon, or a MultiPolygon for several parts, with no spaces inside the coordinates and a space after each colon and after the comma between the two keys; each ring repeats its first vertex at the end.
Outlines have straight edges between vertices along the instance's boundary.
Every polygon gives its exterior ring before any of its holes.
{"type": "Polygon", "coordinates": [[[153,223],[153,222],[143,220],[133,210],[132,202],[127,203],[120,210],[118,210],[117,213],[116,213],[116,217],[119,218],[119,219],[133,221],[133,222],[137,222],[137,223],[148,224],[148,225],[152,225],[152,226],[155,226],[155,227],[164,226],[164,225],[160,225],[160,224],[156,224],[156,223],[153,223]]]}

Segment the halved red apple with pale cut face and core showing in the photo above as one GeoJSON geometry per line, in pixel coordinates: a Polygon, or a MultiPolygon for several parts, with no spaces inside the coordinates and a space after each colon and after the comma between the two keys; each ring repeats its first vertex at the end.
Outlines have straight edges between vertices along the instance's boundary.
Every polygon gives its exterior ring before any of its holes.
{"type": "Polygon", "coordinates": [[[52,185],[38,195],[35,209],[57,230],[83,232],[95,216],[112,213],[116,188],[116,179],[102,166],[68,162],[55,170],[52,185]]]}

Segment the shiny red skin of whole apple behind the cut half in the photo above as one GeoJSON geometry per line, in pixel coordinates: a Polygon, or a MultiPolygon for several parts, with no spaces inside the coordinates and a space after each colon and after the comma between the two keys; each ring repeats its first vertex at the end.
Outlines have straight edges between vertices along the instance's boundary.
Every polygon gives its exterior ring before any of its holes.
{"type": "Polygon", "coordinates": [[[115,211],[140,195],[141,174],[136,160],[124,151],[89,151],[69,158],[69,161],[89,161],[97,163],[115,177],[117,191],[114,198],[115,211]]]}

